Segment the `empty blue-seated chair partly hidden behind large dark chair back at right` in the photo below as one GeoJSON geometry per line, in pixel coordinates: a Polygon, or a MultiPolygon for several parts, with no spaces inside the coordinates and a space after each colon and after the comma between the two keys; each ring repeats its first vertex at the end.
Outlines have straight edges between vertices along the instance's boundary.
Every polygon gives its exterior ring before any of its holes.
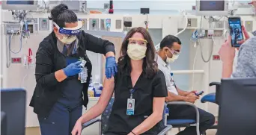
{"type": "MultiPolygon", "coordinates": [[[[206,102],[210,102],[210,103],[213,103],[213,104],[218,104],[220,103],[220,95],[221,95],[221,91],[220,91],[220,87],[221,87],[221,83],[219,82],[211,82],[209,84],[210,87],[212,86],[216,86],[216,92],[211,92],[207,95],[204,95],[202,98],[201,98],[201,103],[206,103],[206,102]]],[[[217,129],[218,128],[218,125],[213,125],[212,128],[210,129],[217,129]]]]}

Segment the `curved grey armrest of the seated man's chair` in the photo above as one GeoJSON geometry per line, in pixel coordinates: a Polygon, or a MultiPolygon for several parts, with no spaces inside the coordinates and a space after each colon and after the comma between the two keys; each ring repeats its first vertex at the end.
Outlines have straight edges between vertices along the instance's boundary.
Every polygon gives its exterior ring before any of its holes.
{"type": "MultiPolygon", "coordinates": [[[[186,101],[170,101],[170,102],[167,102],[167,104],[180,104],[180,105],[189,105],[191,107],[194,107],[195,108],[195,113],[196,113],[196,132],[197,134],[199,135],[199,111],[198,111],[198,107],[195,106],[195,104],[192,104],[192,103],[189,103],[189,102],[186,102],[186,101]]],[[[171,111],[171,110],[169,110],[171,111]]]]}

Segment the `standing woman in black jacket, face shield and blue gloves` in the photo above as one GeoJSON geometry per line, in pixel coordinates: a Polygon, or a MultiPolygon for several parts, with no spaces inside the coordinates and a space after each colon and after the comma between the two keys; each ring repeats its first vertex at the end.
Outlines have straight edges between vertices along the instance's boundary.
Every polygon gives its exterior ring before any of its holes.
{"type": "Polygon", "coordinates": [[[92,65],[86,50],[106,55],[106,77],[117,72],[115,47],[82,31],[82,22],[67,5],[52,9],[54,28],[36,54],[37,85],[30,106],[37,113],[42,135],[69,135],[88,104],[92,65]]]}

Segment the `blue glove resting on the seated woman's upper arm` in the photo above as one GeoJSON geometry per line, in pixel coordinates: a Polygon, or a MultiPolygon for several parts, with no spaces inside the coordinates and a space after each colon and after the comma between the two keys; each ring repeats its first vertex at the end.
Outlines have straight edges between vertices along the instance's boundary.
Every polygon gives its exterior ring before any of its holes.
{"type": "Polygon", "coordinates": [[[115,73],[118,72],[118,65],[115,62],[115,57],[106,58],[106,78],[112,78],[112,75],[115,76],[115,73]]]}

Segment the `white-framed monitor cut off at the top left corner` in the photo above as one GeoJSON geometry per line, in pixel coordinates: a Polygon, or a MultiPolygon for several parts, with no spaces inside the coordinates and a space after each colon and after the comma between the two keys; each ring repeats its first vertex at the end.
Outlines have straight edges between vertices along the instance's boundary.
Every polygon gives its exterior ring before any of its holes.
{"type": "Polygon", "coordinates": [[[37,10],[37,0],[4,0],[1,5],[3,10],[37,10]]]}

